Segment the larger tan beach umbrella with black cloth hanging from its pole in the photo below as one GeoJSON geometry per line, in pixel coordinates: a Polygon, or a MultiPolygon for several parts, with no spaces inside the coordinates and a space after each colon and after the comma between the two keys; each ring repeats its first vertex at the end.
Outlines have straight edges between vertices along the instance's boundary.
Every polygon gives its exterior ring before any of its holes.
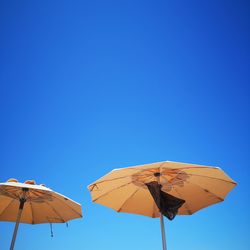
{"type": "Polygon", "coordinates": [[[92,201],[117,212],[159,218],[194,212],[221,202],[236,183],[218,167],[158,162],[114,169],[88,186],[92,201]]]}

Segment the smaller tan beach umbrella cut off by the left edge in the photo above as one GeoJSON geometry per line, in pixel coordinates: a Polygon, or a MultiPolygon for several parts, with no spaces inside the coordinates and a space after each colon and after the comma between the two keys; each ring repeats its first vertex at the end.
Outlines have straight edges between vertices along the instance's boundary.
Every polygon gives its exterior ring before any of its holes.
{"type": "Polygon", "coordinates": [[[16,222],[10,249],[14,249],[19,223],[63,223],[82,217],[81,205],[34,181],[15,179],[0,183],[0,221],[16,222]]]}

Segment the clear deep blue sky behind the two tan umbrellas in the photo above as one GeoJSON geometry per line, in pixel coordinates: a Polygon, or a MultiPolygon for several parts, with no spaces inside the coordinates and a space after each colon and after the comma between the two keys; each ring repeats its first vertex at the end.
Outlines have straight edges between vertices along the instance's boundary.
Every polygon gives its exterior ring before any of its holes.
{"type": "MultiPolygon", "coordinates": [[[[91,203],[113,168],[221,167],[220,204],[166,220],[170,250],[249,250],[247,0],[0,1],[0,168],[82,204],[83,219],[21,224],[19,250],[161,249],[158,219],[91,203]]],[[[0,222],[8,249],[14,223],[0,222]]]]}

